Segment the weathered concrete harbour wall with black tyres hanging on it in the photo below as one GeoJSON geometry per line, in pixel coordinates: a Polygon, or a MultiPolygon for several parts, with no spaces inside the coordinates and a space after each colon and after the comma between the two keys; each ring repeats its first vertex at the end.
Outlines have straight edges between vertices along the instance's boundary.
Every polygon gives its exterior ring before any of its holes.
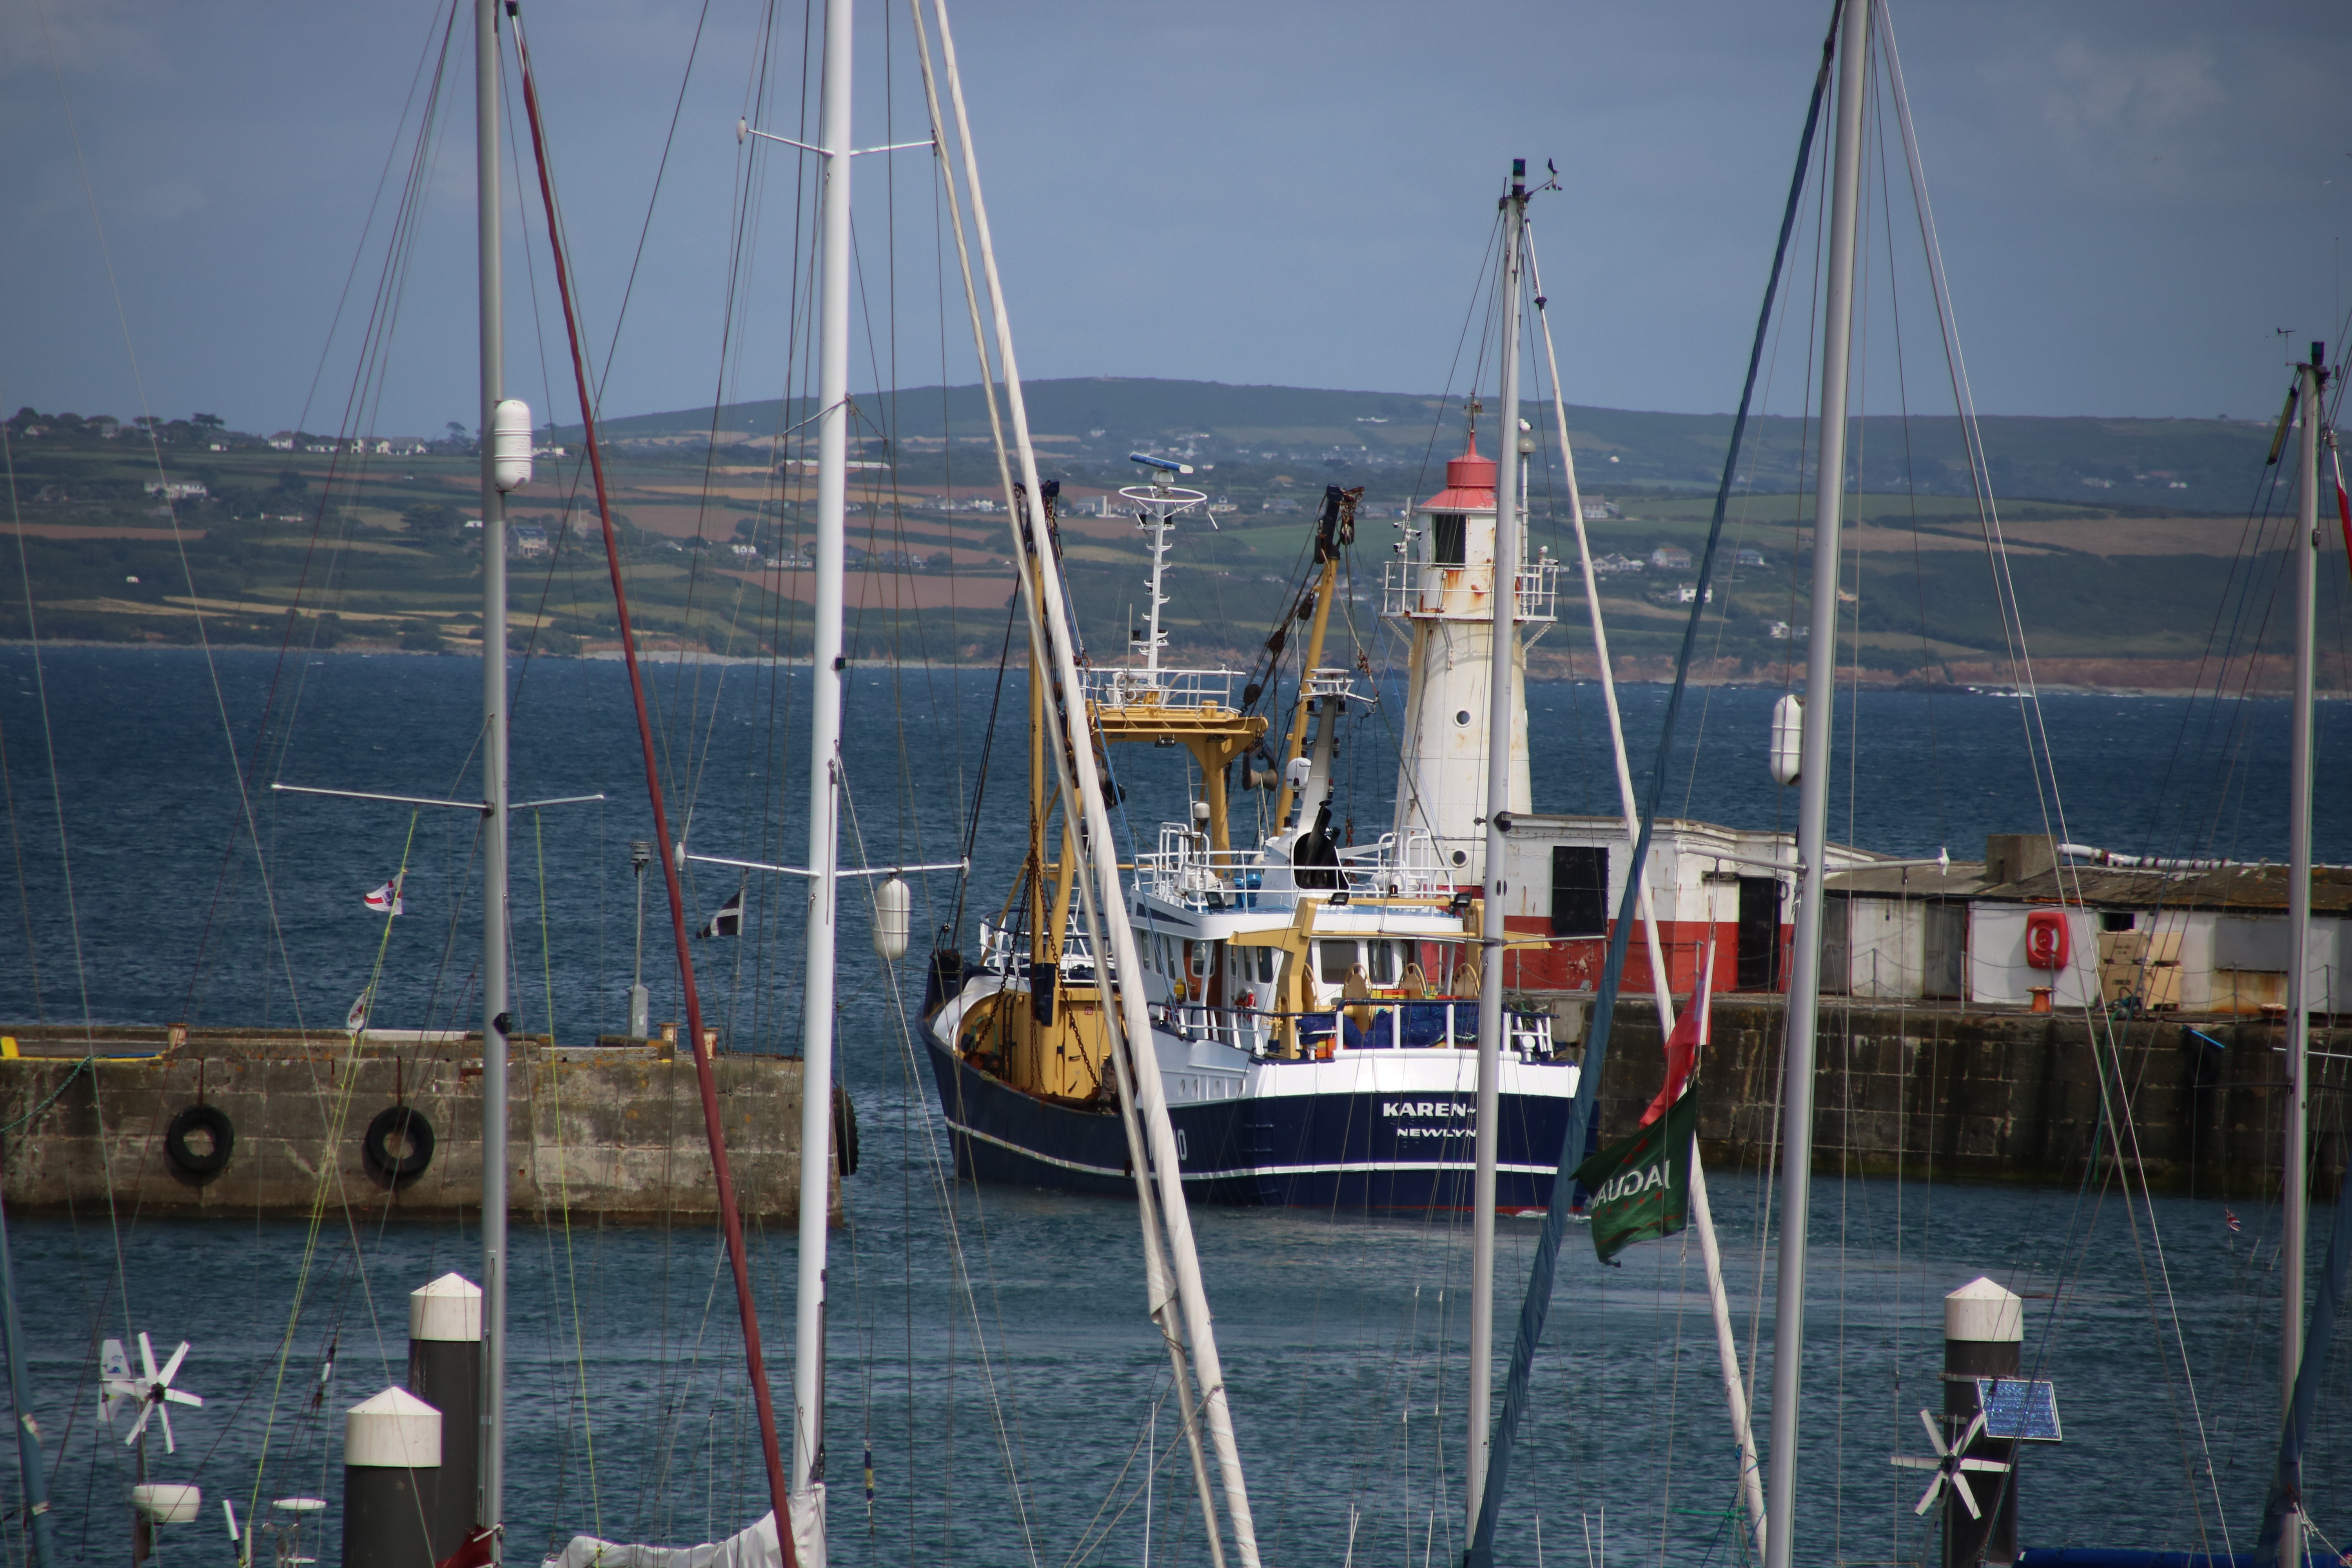
{"type": "MultiPolygon", "coordinates": [[[[480,1034],[0,1034],[14,1041],[0,1060],[0,1126],[16,1211],[103,1213],[113,1199],[120,1218],[480,1215],[480,1034]],[[395,1107],[423,1126],[386,1117],[395,1107]],[[223,1152],[221,1121],[226,1159],[202,1168],[223,1152]]],[[[743,1213],[795,1218],[800,1060],[717,1056],[715,1072],[743,1213]]],[[[506,1140],[515,1220],[717,1215],[694,1063],[659,1041],[508,1041],[506,1140]]],[[[837,1204],[835,1168],[828,1208],[837,1204]]]]}

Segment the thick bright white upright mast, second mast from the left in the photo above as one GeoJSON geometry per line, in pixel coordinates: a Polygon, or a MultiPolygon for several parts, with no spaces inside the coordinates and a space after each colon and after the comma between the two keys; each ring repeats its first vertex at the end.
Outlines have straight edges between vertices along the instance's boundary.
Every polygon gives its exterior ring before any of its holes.
{"type": "Polygon", "coordinates": [[[800,1023],[800,1321],[793,1335],[793,1497],[826,1467],[826,1194],[833,1166],[833,945],[842,762],[842,529],[849,503],[851,2],[826,0],[823,277],[816,334],[816,614],[809,639],[809,971],[800,1023]]]}

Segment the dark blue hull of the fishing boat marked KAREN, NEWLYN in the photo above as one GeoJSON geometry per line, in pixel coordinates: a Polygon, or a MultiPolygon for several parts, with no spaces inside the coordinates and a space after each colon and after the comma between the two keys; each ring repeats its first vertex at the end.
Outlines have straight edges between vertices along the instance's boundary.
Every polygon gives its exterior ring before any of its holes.
{"type": "MultiPolygon", "coordinates": [[[[1073,1110],[1009,1088],[943,1048],[929,1030],[924,1046],[957,1175],[1134,1197],[1117,1112],[1073,1110]]],[[[1425,1128],[1385,1117],[1381,1098],[1261,1095],[1169,1107],[1185,1194],[1195,1204],[1261,1208],[1468,1208],[1470,1121],[1430,1138],[1425,1128]]],[[[1529,1211],[1550,1201],[1566,1124],[1564,1098],[1503,1098],[1496,1208],[1529,1211]]]]}

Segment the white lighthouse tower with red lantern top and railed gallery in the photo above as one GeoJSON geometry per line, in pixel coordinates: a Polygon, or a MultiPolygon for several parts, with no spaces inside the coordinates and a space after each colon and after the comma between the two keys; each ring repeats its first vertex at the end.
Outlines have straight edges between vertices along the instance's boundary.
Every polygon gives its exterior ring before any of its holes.
{"type": "MultiPolygon", "coordinates": [[[[1397,771],[1397,842],[1409,832],[1437,839],[1437,860],[1454,886],[1486,875],[1486,682],[1494,668],[1494,458],[1479,456],[1477,425],[1446,487],[1414,508],[1397,545],[1402,559],[1383,583],[1385,618],[1411,637],[1411,684],[1404,698],[1404,764],[1397,771]]],[[[1524,487],[1522,487],[1524,494],[1524,487]]],[[[1522,508],[1524,515],[1524,508],[1522,508]]],[[[1519,529],[1526,538],[1526,529],[1519,529]]],[[[1557,562],[1550,550],[1508,574],[1519,609],[1510,658],[1510,811],[1529,811],[1526,783],[1526,644],[1517,628],[1555,618],[1557,562]]]]}

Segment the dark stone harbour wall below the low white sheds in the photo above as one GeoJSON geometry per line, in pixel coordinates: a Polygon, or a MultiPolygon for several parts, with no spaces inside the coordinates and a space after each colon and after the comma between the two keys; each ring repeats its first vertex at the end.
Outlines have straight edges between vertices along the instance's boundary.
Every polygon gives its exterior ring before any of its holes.
{"type": "MultiPolygon", "coordinates": [[[[1566,1025],[1562,1037],[1588,1034],[1581,1018],[1590,994],[1529,994],[1526,1004],[1550,1006],[1566,1025]]],[[[1771,1164],[1785,1013],[1778,997],[1715,999],[1698,1084],[1698,1140],[1710,1164],[1771,1164]]],[[[2152,1190],[2274,1199],[2284,1039],[2281,1023],[2239,1018],[2093,1023],[2079,1011],[1830,999],[1813,1070],[1813,1168],[2072,1185],[2093,1159],[2100,1173],[2114,1168],[2114,1117],[2129,1126],[2124,1147],[2152,1190]]],[[[2312,1192],[2333,1199],[2345,1171],[2352,1030],[2314,1027],[2310,1051],[2312,1192]]],[[[1602,1143],[1637,1126],[1663,1079],[1656,1004],[1618,1004],[1599,1095],[1602,1143]]]]}

